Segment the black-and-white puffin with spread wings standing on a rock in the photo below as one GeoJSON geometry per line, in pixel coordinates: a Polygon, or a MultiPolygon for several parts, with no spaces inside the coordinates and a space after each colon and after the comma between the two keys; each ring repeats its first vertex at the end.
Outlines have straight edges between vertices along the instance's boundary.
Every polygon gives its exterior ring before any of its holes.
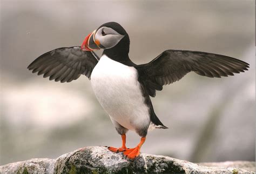
{"type": "Polygon", "coordinates": [[[28,69],[56,82],[71,82],[80,75],[91,80],[100,105],[122,138],[119,148],[108,147],[127,158],[139,156],[147,132],[167,127],[154,112],[151,97],[164,85],[179,81],[187,73],[206,77],[227,77],[248,70],[250,64],[230,56],[191,50],[165,50],[145,64],[129,57],[130,39],[116,22],[99,26],[85,37],[81,46],[62,47],[39,56],[28,69]],[[103,49],[99,57],[94,51],[103,49]],[[126,133],[141,138],[134,148],[126,147],[126,133]]]}

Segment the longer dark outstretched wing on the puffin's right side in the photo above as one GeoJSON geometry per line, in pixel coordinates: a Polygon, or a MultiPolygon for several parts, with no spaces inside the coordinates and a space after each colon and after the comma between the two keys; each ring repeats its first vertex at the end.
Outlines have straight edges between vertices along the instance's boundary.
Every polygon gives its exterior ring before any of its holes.
{"type": "Polygon", "coordinates": [[[147,92],[154,97],[156,90],[162,90],[163,85],[178,81],[190,71],[207,77],[233,76],[233,73],[248,70],[249,64],[219,54],[170,49],[136,68],[139,80],[148,86],[147,92]]]}

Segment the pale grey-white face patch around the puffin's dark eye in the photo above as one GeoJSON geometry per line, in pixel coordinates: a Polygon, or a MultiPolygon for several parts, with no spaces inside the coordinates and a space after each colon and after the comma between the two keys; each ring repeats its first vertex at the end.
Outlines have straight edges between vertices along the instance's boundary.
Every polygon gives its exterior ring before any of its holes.
{"type": "Polygon", "coordinates": [[[118,42],[124,38],[124,35],[119,34],[109,27],[101,27],[95,33],[95,41],[98,40],[100,45],[106,49],[112,48],[118,44],[118,42]]]}

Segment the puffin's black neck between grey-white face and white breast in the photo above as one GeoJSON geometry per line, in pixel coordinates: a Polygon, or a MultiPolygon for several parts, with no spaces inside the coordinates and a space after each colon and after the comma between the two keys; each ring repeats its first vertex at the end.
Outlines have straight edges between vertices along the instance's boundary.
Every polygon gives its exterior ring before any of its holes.
{"type": "Polygon", "coordinates": [[[127,66],[132,66],[131,60],[129,58],[130,40],[128,35],[114,47],[109,49],[104,49],[103,55],[106,55],[110,59],[123,63],[127,66]]]}

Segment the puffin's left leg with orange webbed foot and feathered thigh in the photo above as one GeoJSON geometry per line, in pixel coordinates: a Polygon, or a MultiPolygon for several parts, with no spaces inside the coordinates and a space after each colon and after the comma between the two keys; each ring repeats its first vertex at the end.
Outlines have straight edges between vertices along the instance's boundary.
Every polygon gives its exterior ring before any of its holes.
{"type": "Polygon", "coordinates": [[[126,143],[126,135],[125,134],[128,131],[128,129],[121,126],[120,124],[118,124],[118,122],[116,122],[114,120],[112,120],[112,122],[113,122],[114,126],[116,127],[118,134],[120,134],[122,137],[122,146],[120,148],[108,147],[107,149],[109,149],[110,151],[113,151],[115,153],[119,153],[120,151],[124,151],[127,149],[125,146],[125,143],[126,143]]]}

